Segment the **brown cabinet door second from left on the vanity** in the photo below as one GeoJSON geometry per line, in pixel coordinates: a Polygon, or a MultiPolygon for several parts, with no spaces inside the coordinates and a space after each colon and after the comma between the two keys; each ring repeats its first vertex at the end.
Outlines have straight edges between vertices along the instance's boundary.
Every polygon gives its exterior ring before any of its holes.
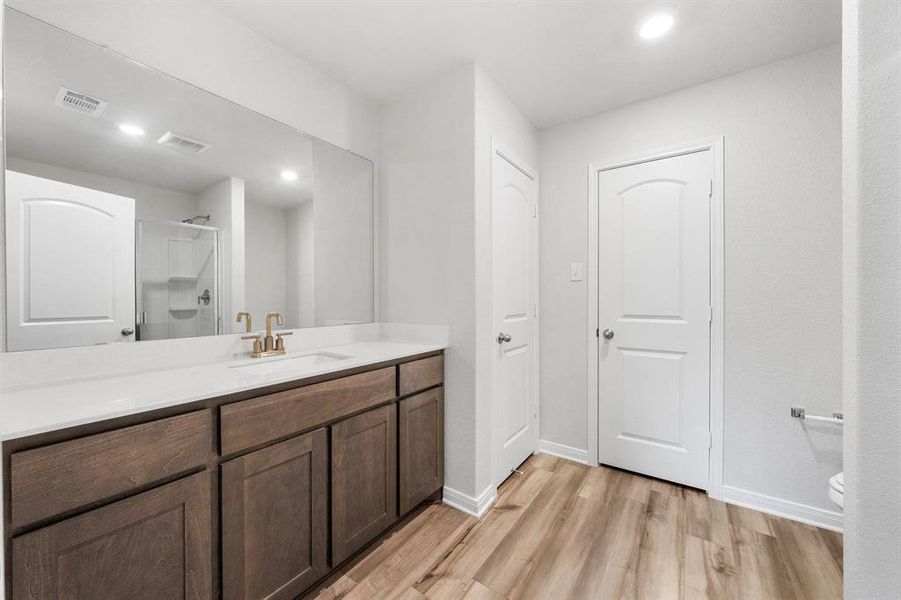
{"type": "Polygon", "coordinates": [[[325,429],[222,465],[226,600],[295,598],[328,571],[325,429]]]}

